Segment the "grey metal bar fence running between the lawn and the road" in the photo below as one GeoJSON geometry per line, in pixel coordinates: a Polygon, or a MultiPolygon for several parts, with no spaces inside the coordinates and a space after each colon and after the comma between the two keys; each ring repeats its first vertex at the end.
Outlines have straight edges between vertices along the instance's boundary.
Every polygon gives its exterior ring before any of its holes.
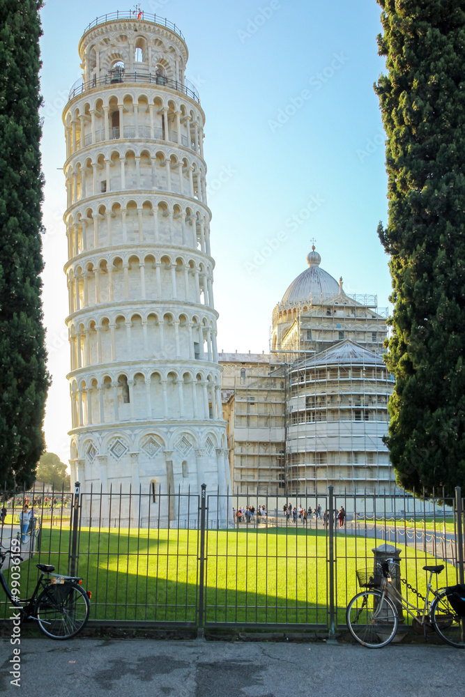
{"type": "MultiPolygon", "coordinates": [[[[409,600],[425,592],[422,567],[432,560],[445,565],[438,587],[463,582],[459,490],[454,499],[417,501],[407,516],[398,512],[408,509],[402,497],[354,498],[333,495],[332,487],[294,500],[220,496],[206,487],[200,495],[22,492],[7,507],[3,546],[20,532],[26,498],[36,523],[22,542],[22,597],[36,583],[38,562],[79,574],[92,592],[91,625],[333,635],[358,592],[356,570],[373,569],[380,547],[399,559],[409,600]]],[[[7,617],[4,603],[0,618],[7,617]]]]}

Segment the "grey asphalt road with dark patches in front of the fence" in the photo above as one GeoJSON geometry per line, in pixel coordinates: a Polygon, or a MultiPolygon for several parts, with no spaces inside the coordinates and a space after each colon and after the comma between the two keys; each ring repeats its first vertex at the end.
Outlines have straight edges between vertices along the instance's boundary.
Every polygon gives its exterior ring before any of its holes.
{"type": "MultiPolygon", "coordinates": [[[[0,640],[0,694],[13,646],[0,640]]],[[[20,687],[34,697],[437,697],[465,694],[465,650],[446,645],[24,638],[20,687]]]]}

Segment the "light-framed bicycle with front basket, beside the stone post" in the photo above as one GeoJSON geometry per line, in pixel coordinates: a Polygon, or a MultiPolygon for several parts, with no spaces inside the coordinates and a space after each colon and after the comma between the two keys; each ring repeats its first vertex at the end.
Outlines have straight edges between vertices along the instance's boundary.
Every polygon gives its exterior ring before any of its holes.
{"type": "Polygon", "coordinates": [[[429,572],[426,597],[409,586],[425,601],[421,609],[404,598],[392,585],[390,563],[396,562],[390,558],[378,564],[381,572],[369,572],[368,569],[357,571],[360,586],[369,590],[355,595],[347,606],[346,622],[353,638],[367,648],[386,646],[395,636],[399,625],[397,606],[402,606],[413,617],[416,631],[422,629],[426,636],[428,631],[434,629],[446,643],[456,648],[465,648],[465,586],[454,585],[434,590],[431,583],[433,574],[440,574],[444,565],[423,567],[429,572]],[[434,599],[428,606],[430,592],[434,599]]]}

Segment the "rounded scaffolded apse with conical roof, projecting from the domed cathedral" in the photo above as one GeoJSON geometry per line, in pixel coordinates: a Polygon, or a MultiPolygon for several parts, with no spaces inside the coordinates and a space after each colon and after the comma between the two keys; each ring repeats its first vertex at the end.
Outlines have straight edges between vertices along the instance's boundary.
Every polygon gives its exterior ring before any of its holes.
{"type": "Polygon", "coordinates": [[[289,494],[395,493],[383,443],[393,377],[380,355],[350,340],[294,362],[287,374],[289,494]]]}

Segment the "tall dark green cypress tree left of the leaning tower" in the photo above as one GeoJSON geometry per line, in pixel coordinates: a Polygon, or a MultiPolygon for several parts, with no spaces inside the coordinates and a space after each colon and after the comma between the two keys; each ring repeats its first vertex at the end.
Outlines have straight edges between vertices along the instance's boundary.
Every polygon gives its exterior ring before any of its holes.
{"type": "Polygon", "coordinates": [[[0,0],[0,483],[9,489],[34,481],[49,385],[39,277],[41,6],[0,0]]]}

